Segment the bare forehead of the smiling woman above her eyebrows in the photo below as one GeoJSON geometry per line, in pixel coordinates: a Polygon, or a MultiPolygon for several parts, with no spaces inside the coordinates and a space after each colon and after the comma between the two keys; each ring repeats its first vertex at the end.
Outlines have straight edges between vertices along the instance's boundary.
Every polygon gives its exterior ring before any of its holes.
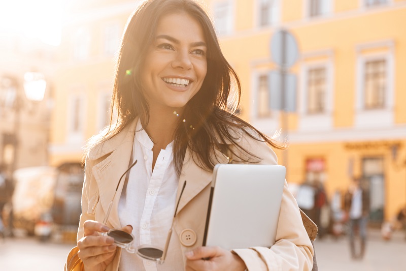
{"type": "Polygon", "coordinates": [[[170,13],[159,19],[155,36],[168,35],[181,42],[206,42],[200,23],[187,13],[170,13]]]}

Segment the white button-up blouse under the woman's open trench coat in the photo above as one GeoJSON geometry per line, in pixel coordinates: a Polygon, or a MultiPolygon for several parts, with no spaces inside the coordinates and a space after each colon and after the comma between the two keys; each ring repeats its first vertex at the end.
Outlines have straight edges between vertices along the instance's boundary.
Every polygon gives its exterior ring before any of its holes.
{"type": "MultiPolygon", "coordinates": [[[[148,244],[163,249],[168,230],[172,225],[179,178],[173,163],[172,144],[161,149],[152,171],[152,147],[154,143],[137,123],[132,147],[133,161],[118,204],[122,226],[130,224],[135,236],[134,247],[148,244]]],[[[164,264],[144,260],[137,254],[122,250],[120,271],[168,271],[183,270],[181,245],[175,231],[172,232],[164,264]]]]}

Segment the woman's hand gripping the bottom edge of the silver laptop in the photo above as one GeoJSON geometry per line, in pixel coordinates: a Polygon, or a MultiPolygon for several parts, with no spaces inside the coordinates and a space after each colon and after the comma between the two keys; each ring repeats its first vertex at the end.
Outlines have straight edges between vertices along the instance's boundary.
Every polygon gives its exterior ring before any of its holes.
{"type": "Polygon", "coordinates": [[[198,247],[187,252],[186,258],[186,271],[244,271],[247,268],[239,256],[219,247],[198,247]]]}

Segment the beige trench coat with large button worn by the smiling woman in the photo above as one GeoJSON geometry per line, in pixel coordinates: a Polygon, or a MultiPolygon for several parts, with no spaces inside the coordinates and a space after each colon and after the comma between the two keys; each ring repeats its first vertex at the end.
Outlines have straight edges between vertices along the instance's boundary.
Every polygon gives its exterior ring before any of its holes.
{"type": "MultiPolygon", "coordinates": [[[[116,136],[95,146],[89,152],[86,159],[78,240],[83,237],[83,223],[86,220],[101,222],[105,218],[120,175],[129,165],[136,123],[133,121],[116,136]]],[[[265,143],[247,135],[240,135],[239,144],[261,158],[258,164],[277,164],[276,154],[265,143]]],[[[217,150],[215,155],[218,163],[229,162],[227,156],[217,150]]],[[[187,180],[187,186],[174,221],[174,230],[180,239],[183,253],[202,245],[212,180],[212,172],[198,167],[191,158],[189,149],[186,151],[179,179],[178,197],[184,180],[187,180]]],[[[124,182],[121,182],[118,187],[107,222],[110,228],[123,226],[120,225],[117,210],[123,185],[124,182]]],[[[315,233],[317,228],[314,223],[304,221],[306,219],[303,219],[303,223],[308,222],[311,226],[307,229],[303,226],[296,200],[288,191],[285,181],[276,244],[271,248],[253,247],[233,252],[244,260],[250,271],[311,270],[314,252],[307,230],[315,233]]],[[[120,256],[119,249],[113,262],[107,267],[108,271],[118,270],[120,256]]],[[[183,260],[186,262],[185,256],[183,260]]]]}

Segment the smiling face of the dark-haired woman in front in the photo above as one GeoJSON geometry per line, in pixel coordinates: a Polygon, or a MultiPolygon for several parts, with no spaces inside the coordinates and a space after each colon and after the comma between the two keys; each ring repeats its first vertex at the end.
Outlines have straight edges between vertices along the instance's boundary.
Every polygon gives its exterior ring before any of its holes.
{"type": "Polygon", "coordinates": [[[163,16],[157,25],[141,78],[151,111],[184,107],[199,91],[207,72],[203,29],[186,13],[163,16]]]}

